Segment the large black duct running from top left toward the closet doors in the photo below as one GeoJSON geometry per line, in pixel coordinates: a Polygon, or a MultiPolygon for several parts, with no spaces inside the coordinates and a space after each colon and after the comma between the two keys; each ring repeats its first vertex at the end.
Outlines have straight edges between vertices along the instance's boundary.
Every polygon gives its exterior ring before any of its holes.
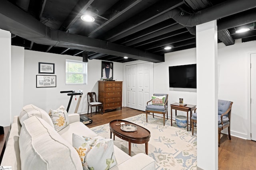
{"type": "Polygon", "coordinates": [[[161,55],[155,55],[108,41],[51,29],[12,5],[10,2],[1,0],[0,3],[0,28],[35,43],[80,49],[95,53],[105,53],[121,57],[128,56],[131,59],[153,63],[164,62],[164,56],[161,55]],[[9,10],[12,10],[12,12],[10,13],[9,10]]]}

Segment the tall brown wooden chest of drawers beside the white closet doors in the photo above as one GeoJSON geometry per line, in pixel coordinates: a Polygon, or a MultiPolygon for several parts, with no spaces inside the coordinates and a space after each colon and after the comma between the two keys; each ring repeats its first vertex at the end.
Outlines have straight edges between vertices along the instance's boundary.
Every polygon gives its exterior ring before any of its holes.
{"type": "Polygon", "coordinates": [[[120,81],[99,81],[99,102],[103,104],[103,113],[117,107],[122,110],[122,84],[120,81]]]}

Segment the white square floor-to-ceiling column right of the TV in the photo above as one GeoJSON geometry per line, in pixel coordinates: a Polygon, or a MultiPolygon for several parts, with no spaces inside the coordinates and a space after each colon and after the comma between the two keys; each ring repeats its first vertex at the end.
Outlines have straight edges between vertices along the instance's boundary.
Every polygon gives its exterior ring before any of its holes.
{"type": "Polygon", "coordinates": [[[217,21],[196,26],[197,167],[218,169],[217,21]]]}

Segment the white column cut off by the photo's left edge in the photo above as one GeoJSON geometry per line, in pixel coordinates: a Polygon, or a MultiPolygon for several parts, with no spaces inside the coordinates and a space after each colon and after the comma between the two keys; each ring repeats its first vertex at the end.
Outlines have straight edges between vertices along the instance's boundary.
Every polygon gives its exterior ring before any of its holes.
{"type": "MultiPolygon", "coordinates": [[[[11,123],[11,33],[0,29],[0,126],[11,123]]],[[[18,84],[17,84],[18,85],[18,84]]]]}

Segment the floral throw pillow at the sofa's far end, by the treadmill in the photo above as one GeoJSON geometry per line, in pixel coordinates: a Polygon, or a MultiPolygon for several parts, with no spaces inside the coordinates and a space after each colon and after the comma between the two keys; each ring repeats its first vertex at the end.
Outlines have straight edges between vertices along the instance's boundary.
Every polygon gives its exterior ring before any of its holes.
{"type": "Polygon", "coordinates": [[[69,125],[68,112],[64,106],[60,106],[56,110],[50,109],[49,116],[57,132],[69,125]]]}

